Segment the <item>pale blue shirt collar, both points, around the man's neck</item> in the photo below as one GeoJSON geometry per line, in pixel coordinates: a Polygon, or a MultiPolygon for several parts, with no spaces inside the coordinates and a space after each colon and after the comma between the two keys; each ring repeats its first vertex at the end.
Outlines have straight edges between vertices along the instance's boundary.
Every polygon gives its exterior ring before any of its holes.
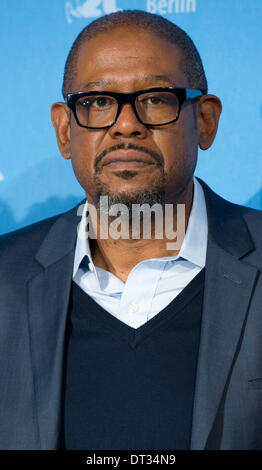
{"type": "MultiPolygon", "coordinates": [[[[166,256],[163,258],[152,258],[159,261],[172,261],[178,258],[184,258],[191,263],[203,268],[206,262],[207,249],[207,212],[204,191],[196,178],[194,181],[193,204],[188,220],[188,226],[183,240],[180,252],[177,256],[166,256]]],[[[75,249],[75,259],[73,268],[73,277],[77,273],[81,262],[88,266],[89,271],[93,271],[98,281],[96,267],[92,261],[89,240],[86,235],[86,214],[88,211],[88,201],[83,205],[81,222],[78,226],[77,243],[75,249]]]]}

